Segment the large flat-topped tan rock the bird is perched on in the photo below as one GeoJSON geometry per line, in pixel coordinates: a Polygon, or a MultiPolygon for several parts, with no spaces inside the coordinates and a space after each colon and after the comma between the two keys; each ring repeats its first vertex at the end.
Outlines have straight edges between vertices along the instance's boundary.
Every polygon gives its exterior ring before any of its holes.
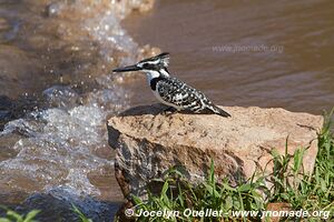
{"type": "Polygon", "coordinates": [[[116,178],[126,198],[145,195],[151,179],[179,167],[196,183],[207,174],[210,159],[215,174],[248,179],[256,165],[272,169],[271,151],[288,153],[310,149],[303,160],[312,172],[317,153],[317,132],[323,118],[283,109],[224,108],[232,118],[210,114],[164,114],[164,107],[137,107],[108,121],[109,144],[116,149],[116,178]]]}

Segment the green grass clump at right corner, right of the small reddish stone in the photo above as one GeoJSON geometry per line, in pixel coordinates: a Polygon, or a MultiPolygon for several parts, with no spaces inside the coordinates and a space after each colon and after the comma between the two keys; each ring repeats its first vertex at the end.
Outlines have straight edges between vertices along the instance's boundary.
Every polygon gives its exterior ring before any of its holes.
{"type": "Polygon", "coordinates": [[[305,149],[297,150],[293,157],[274,154],[277,181],[274,183],[275,192],[271,202],[284,201],[291,203],[293,209],[334,212],[334,139],[328,117],[331,115],[325,118],[325,124],[318,134],[318,153],[312,175],[301,172],[305,149]],[[287,167],[289,162],[293,162],[292,169],[287,167]],[[287,176],[299,176],[301,180],[296,180],[297,184],[291,184],[287,176]]]}

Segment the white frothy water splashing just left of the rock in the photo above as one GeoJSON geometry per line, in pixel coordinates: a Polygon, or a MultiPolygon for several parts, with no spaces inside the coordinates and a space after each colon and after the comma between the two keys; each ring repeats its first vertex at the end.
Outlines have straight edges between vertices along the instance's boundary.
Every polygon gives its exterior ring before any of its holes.
{"type": "Polygon", "coordinates": [[[28,180],[40,189],[62,184],[99,195],[87,175],[112,168],[111,160],[97,157],[95,151],[107,147],[106,118],[126,105],[119,101],[124,93],[121,89],[104,89],[89,93],[85,105],[47,109],[9,122],[1,135],[19,134],[21,139],[12,147],[18,154],[0,162],[1,182],[20,186],[18,181],[28,180]]]}

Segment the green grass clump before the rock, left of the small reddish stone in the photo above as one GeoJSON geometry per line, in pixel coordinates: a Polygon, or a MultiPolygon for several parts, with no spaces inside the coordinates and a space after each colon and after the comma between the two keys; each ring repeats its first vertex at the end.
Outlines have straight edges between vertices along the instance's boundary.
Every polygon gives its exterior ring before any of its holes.
{"type": "MultiPolygon", "coordinates": [[[[255,174],[246,183],[238,186],[230,186],[227,179],[217,181],[214,174],[214,161],[206,180],[197,185],[189,183],[180,172],[173,170],[167,174],[163,189],[158,195],[148,191],[146,201],[134,196],[136,212],[163,211],[177,212],[165,214],[165,216],[139,216],[137,221],[222,221],[233,220],[232,211],[262,211],[264,210],[264,196],[261,191],[267,191],[264,179],[255,174]],[[200,214],[188,214],[204,212],[200,214]],[[207,216],[207,213],[217,212],[215,216],[207,216]]],[[[141,214],[143,215],[143,214],[141,214]]],[[[246,221],[247,219],[243,219],[246,221]]]]}

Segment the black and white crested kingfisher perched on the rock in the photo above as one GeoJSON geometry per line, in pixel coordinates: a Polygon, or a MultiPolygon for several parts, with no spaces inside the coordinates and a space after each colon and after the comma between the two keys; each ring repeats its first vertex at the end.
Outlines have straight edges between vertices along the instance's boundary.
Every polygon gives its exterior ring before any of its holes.
{"type": "Polygon", "coordinates": [[[178,111],[193,113],[212,113],[230,117],[216,107],[203,92],[189,87],[185,82],[169,75],[167,67],[169,53],[164,52],[153,58],[141,60],[137,64],[112,70],[114,72],[143,71],[147,74],[148,84],[156,98],[164,104],[178,111]]]}

